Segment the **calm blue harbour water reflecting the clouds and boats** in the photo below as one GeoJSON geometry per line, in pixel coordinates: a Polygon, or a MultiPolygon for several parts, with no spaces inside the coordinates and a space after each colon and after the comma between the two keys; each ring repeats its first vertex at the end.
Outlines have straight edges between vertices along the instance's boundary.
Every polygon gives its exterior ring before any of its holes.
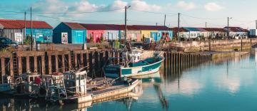
{"type": "MultiPolygon", "coordinates": [[[[136,98],[101,102],[79,110],[257,110],[257,52],[212,61],[183,70],[161,68],[143,79],[143,94],[136,98]],[[160,100],[159,95],[167,102],[160,100]]],[[[77,110],[76,105],[1,97],[3,110],[77,110]]]]}

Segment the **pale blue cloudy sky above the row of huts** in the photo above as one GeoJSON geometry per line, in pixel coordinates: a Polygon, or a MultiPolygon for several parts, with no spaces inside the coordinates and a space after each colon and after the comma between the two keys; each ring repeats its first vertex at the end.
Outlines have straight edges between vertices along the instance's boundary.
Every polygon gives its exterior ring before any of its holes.
{"type": "Polygon", "coordinates": [[[129,25],[164,25],[166,14],[166,26],[176,27],[181,13],[181,26],[223,28],[229,17],[229,26],[251,29],[256,28],[255,4],[256,0],[1,0],[0,18],[24,19],[23,12],[32,7],[33,20],[54,27],[62,21],[124,24],[124,6],[131,6],[129,25]]]}

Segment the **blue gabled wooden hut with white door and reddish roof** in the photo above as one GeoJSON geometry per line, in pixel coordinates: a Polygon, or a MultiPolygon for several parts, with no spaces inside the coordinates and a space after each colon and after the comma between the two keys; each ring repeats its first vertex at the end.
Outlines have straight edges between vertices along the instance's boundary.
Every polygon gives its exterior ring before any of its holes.
{"type": "Polygon", "coordinates": [[[86,43],[86,28],[79,23],[61,22],[54,28],[54,43],[86,43]]]}

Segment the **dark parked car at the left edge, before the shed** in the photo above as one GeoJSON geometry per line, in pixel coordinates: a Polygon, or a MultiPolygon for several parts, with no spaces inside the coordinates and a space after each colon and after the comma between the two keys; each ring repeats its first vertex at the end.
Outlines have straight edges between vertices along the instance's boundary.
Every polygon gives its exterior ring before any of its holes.
{"type": "Polygon", "coordinates": [[[11,41],[10,38],[0,37],[0,49],[8,47],[18,48],[18,44],[11,41]]]}

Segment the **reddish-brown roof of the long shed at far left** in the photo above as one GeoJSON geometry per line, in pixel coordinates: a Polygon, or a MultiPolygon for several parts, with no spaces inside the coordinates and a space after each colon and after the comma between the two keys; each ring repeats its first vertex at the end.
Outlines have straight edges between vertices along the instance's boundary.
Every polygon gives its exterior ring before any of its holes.
{"type": "MultiPolygon", "coordinates": [[[[3,28],[24,28],[24,20],[0,19],[0,26],[3,28]]],[[[26,28],[31,28],[31,21],[26,21],[26,28]]],[[[46,21],[32,21],[32,28],[53,28],[46,21]]]]}

